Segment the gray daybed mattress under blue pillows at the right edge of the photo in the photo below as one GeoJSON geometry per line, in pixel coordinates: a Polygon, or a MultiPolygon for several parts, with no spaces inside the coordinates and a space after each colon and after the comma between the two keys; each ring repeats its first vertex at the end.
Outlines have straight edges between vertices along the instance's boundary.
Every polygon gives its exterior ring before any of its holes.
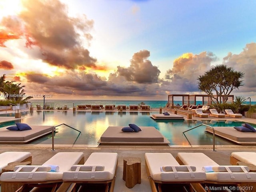
{"type": "MultiPolygon", "coordinates": [[[[241,132],[234,127],[213,127],[215,135],[227,139],[236,144],[256,144],[256,132],[241,132]]],[[[212,133],[212,129],[206,127],[206,131],[212,133]]]]}

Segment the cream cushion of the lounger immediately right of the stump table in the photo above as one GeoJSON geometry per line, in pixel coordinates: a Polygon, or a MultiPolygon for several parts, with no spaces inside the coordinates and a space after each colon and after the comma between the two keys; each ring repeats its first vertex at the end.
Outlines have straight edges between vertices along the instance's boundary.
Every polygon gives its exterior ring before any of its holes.
{"type": "Polygon", "coordinates": [[[145,160],[150,176],[155,181],[165,182],[191,182],[204,181],[204,172],[161,172],[161,167],[166,165],[180,166],[170,153],[145,153],[145,160]]]}

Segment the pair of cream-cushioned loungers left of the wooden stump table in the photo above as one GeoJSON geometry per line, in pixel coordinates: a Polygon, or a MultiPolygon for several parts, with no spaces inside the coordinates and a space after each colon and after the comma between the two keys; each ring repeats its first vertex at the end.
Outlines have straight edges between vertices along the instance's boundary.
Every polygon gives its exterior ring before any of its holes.
{"type": "Polygon", "coordinates": [[[30,191],[34,187],[66,192],[86,184],[113,192],[117,160],[117,153],[94,152],[84,163],[82,152],[59,152],[42,165],[16,166],[14,172],[2,173],[2,192],[30,191]]]}

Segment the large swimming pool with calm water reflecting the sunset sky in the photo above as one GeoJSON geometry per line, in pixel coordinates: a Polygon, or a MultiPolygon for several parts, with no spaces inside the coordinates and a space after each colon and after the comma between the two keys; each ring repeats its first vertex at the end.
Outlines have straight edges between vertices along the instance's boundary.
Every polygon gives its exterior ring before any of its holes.
{"type": "MultiPolygon", "coordinates": [[[[199,124],[210,126],[240,126],[242,122],[234,120],[153,120],[150,115],[157,112],[94,112],[94,111],[33,111],[22,114],[22,122],[29,125],[57,126],[67,124],[80,130],[66,126],[59,126],[54,136],[55,144],[88,144],[96,145],[108,126],[128,126],[130,123],[138,126],[154,126],[169,141],[170,145],[212,145],[212,134],[204,132],[205,127],[200,126],[182,134],[182,132],[199,124]]],[[[11,115],[8,115],[11,116],[11,115]]],[[[15,124],[15,121],[1,123],[1,127],[15,124]]],[[[34,144],[52,144],[52,135],[45,136],[34,144]]],[[[217,145],[233,144],[216,137],[217,145]]]]}

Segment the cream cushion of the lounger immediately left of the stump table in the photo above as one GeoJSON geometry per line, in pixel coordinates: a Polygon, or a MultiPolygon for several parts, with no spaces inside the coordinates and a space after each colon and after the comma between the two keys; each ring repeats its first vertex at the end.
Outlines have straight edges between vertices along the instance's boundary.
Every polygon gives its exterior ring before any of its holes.
{"type": "Polygon", "coordinates": [[[67,171],[63,173],[64,181],[109,181],[114,178],[118,160],[117,153],[94,152],[84,163],[85,166],[101,165],[104,171],[67,171]]]}

